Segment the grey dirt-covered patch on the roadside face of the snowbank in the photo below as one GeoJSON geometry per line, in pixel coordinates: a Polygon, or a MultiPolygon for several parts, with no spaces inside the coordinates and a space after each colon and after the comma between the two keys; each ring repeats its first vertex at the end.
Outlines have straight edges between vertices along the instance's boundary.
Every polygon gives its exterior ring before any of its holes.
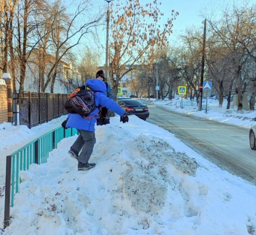
{"type": "Polygon", "coordinates": [[[140,135],[134,143],[135,164],[125,162],[130,170],[122,174],[124,195],[137,211],[157,211],[165,205],[168,183],[177,183],[166,167],[171,164],[181,174],[193,176],[198,164],[185,153],[175,152],[169,143],[160,138],[140,135]]]}

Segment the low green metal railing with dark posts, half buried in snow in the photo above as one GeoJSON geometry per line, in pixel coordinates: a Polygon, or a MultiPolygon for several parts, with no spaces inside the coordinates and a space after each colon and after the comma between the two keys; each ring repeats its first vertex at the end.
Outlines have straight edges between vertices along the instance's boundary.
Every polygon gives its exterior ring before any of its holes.
{"type": "Polygon", "coordinates": [[[14,196],[19,192],[21,183],[20,171],[29,169],[32,163],[47,162],[49,152],[57,148],[58,143],[65,137],[77,134],[76,128],[63,129],[58,127],[40,136],[7,156],[6,163],[6,192],[4,226],[10,224],[10,206],[14,205],[14,196]]]}

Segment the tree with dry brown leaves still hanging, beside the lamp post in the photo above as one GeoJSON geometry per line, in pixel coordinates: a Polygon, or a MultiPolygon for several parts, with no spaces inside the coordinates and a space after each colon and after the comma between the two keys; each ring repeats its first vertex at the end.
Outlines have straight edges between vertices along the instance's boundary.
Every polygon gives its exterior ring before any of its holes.
{"type": "Polygon", "coordinates": [[[114,97],[118,82],[135,69],[135,64],[153,64],[156,52],[168,45],[167,35],[178,12],[172,10],[171,19],[163,27],[158,25],[161,15],[157,0],[145,6],[140,0],[117,0],[115,9],[112,4],[109,77],[114,97]]]}

